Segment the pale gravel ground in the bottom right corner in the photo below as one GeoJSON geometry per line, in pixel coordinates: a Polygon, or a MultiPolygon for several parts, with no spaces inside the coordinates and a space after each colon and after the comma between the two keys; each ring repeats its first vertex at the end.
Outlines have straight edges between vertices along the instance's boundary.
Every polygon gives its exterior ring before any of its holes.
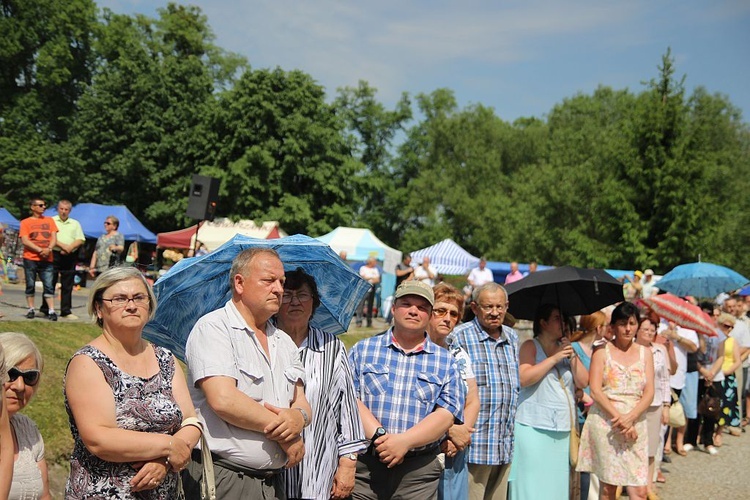
{"type": "Polygon", "coordinates": [[[740,437],[724,434],[718,455],[694,450],[670,458],[672,463],[662,467],[667,478],[659,491],[662,499],[750,499],[750,430],[740,437]]]}

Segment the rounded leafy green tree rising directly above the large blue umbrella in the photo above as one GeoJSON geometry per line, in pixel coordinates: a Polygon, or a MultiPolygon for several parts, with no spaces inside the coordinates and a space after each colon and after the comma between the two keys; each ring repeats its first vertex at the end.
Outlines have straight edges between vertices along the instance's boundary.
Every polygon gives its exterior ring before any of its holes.
{"type": "Polygon", "coordinates": [[[343,122],[301,71],[245,72],[219,96],[204,173],[221,182],[219,211],[323,234],[354,217],[352,158],[343,122]]]}

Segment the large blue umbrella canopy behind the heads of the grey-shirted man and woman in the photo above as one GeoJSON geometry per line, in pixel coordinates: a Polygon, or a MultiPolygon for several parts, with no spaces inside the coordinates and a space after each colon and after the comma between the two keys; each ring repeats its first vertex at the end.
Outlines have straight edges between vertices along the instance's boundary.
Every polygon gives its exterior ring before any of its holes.
{"type": "Polygon", "coordinates": [[[144,337],[184,360],[190,330],[201,316],[222,307],[232,297],[232,261],[252,247],[273,248],[281,256],[285,271],[301,267],[315,278],[321,304],[311,319],[313,326],[334,334],[347,330],[370,285],[328,245],[299,234],[276,240],[237,235],[207,255],[182,259],[156,282],[158,308],[156,317],[144,329],[144,337]]]}

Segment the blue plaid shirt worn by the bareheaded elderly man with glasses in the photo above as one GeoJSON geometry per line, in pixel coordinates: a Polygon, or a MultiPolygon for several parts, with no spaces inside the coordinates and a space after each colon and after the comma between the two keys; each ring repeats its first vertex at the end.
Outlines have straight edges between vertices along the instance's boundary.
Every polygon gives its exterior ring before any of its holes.
{"type": "Polygon", "coordinates": [[[479,465],[509,464],[521,382],[518,375],[518,334],[503,326],[495,340],[475,318],[451,336],[469,353],[479,388],[479,416],[471,436],[468,461],[479,465]]]}

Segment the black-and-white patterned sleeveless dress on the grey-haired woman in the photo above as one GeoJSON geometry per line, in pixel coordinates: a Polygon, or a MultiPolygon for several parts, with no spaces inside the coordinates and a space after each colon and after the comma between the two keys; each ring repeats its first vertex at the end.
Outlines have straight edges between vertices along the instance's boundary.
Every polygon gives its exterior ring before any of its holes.
{"type": "MultiPolygon", "coordinates": [[[[114,394],[118,427],[140,432],[174,434],[182,423],[182,411],[172,395],[174,358],[169,350],[153,347],[159,363],[159,372],[150,378],[136,377],[121,371],[106,354],[90,345],[79,349],[73,358],[88,356],[101,369],[114,394]]],[[[131,492],[129,482],[137,471],[130,462],[107,462],[93,455],[83,444],[78,433],[78,427],[68,405],[67,394],[65,410],[68,412],[70,432],[74,441],[73,455],[70,458],[70,476],[65,488],[66,499],[176,498],[175,472],[169,472],[164,481],[154,489],[131,492]]]]}

